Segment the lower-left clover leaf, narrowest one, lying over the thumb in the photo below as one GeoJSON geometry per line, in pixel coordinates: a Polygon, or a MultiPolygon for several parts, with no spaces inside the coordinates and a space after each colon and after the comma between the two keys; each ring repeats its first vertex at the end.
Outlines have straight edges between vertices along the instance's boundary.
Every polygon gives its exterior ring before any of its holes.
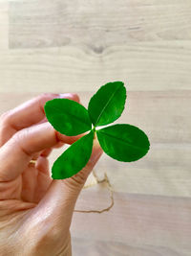
{"type": "Polygon", "coordinates": [[[53,179],[64,179],[81,171],[90,159],[93,140],[94,131],[91,130],[64,151],[53,163],[53,179]]]}

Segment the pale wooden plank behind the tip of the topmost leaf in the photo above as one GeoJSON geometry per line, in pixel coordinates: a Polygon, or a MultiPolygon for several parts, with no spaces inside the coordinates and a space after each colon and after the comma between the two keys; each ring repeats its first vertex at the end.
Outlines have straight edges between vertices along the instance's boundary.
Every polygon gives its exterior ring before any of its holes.
{"type": "Polygon", "coordinates": [[[95,91],[108,81],[124,81],[129,91],[191,88],[190,41],[135,42],[98,55],[67,46],[0,56],[0,92],[95,91]]]}

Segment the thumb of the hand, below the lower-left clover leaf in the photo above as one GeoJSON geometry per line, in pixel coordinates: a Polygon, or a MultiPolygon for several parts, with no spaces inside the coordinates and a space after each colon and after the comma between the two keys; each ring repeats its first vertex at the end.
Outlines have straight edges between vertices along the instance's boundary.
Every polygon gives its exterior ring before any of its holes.
{"type": "Polygon", "coordinates": [[[70,229],[76,199],[102,152],[95,138],[91,158],[79,173],[66,179],[53,179],[45,197],[35,207],[38,218],[44,216],[64,233],[70,229]]]}

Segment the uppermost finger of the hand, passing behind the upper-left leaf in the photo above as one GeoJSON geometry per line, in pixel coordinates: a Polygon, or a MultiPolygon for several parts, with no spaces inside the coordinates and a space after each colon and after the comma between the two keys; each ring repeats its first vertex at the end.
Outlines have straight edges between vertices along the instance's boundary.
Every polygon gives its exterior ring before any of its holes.
{"type": "Polygon", "coordinates": [[[44,105],[47,101],[53,100],[54,98],[67,98],[79,102],[79,97],[76,94],[46,93],[9,110],[0,118],[0,147],[3,146],[16,131],[31,127],[39,122],[44,123],[47,121],[44,105]]]}

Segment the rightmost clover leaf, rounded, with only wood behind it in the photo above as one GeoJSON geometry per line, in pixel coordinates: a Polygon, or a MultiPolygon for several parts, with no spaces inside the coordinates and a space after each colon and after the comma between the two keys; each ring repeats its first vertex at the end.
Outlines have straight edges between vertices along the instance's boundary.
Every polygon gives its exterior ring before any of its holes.
{"type": "Polygon", "coordinates": [[[149,151],[147,135],[131,125],[117,124],[96,130],[103,151],[118,161],[137,161],[149,151]]]}

